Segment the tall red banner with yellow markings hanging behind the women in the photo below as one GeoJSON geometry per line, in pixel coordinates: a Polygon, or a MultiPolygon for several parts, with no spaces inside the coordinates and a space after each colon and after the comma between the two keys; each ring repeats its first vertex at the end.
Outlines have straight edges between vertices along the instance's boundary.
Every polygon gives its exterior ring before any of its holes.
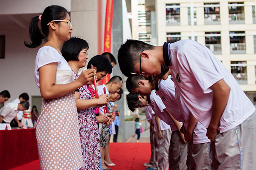
{"type": "MultiPolygon", "coordinates": [[[[112,21],[113,21],[113,0],[107,0],[106,17],[105,17],[105,34],[104,34],[104,52],[111,53],[111,35],[112,35],[112,21]]],[[[110,79],[110,74],[107,74],[101,84],[107,84],[110,79]]]]}

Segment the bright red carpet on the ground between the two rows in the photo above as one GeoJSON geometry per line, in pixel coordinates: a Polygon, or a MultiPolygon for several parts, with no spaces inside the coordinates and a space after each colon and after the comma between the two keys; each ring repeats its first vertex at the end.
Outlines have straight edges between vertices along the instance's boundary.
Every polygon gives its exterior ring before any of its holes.
{"type": "MultiPolygon", "coordinates": [[[[150,143],[110,143],[110,156],[116,166],[111,170],[145,170],[150,159],[150,143]]],[[[11,170],[40,170],[39,160],[11,170]]]]}

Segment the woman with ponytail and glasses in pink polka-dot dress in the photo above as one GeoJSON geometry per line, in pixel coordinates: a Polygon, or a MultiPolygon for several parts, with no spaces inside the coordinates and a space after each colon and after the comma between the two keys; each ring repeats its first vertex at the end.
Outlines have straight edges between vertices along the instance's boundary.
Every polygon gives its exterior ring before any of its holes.
{"type": "Polygon", "coordinates": [[[74,81],[74,74],[60,51],[62,43],[70,39],[72,30],[67,9],[48,6],[42,15],[32,18],[31,41],[24,42],[26,47],[36,48],[45,41],[35,59],[35,82],[43,97],[36,127],[42,170],[83,167],[73,92],[84,84],[91,84],[95,73],[89,69],[74,81]]]}

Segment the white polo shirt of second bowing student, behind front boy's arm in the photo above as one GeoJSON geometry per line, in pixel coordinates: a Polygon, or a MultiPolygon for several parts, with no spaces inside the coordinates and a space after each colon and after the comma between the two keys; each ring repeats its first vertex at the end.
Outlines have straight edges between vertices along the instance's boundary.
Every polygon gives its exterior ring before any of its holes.
{"type": "MultiPolygon", "coordinates": [[[[184,102],[180,99],[177,91],[175,91],[174,82],[169,78],[166,80],[161,80],[156,88],[158,89],[156,93],[160,96],[168,111],[175,119],[177,118],[176,120],[179,119],[178,121],[184,122],[184,126],[187,129],[189,124],[189,110],[184,102]]],[[[193,144],[210,142],[206,136],[206,133],[207,129],[200,122],[198,122],[193,133],[193,144]]]]}

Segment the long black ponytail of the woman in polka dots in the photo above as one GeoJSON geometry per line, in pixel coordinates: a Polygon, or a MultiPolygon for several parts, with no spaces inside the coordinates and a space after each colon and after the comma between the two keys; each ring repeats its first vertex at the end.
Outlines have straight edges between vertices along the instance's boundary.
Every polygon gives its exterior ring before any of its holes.
{"type": "Polygon", "coordinates": [[[36,48],[42,44],[44,35],[41,33],[40,28],[38,27],[39,16],[33,17],[29,25],[29,37],[31,42],[25,42],[24,45],[28,48],[36,48]]]}

